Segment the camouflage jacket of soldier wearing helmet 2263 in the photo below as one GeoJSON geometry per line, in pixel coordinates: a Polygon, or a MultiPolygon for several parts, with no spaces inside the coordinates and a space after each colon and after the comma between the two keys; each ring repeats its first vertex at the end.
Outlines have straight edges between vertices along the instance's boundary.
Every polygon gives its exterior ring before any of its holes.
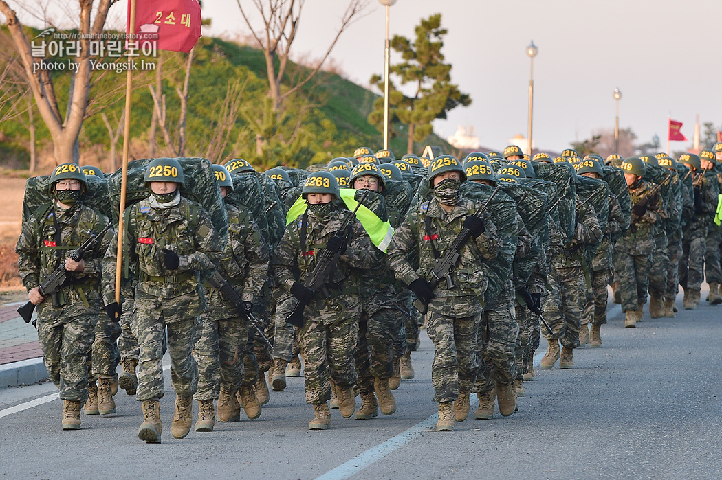
{"type": "MultiPolygon", "coordinates": [[[[271,271],[279,288],[290,291],[294,283],[303,281],[303,275],[313,271],[316,267],[316,255],[326,246],[331,236],[339,231],[349,214],[346,208],[336,208],[326,217],[318,218],[307,210],[305,248],[301,245],[304,215],[299,215],[286,226],[283,238],[271,257],[271,271]]],[[[322,298],[326,295],[319,293],[310,303],[314,313],[319,314],[313,321],[334,324],[339,319],[360,314],[359,270],[367,270],[376,265],[378,254],[380,252],[371,243],[360,221],[354,219],[349,225],[347,249],[339,257],[329,280],[330,296],[322,298]]],[[[306,311],[308,312],[308,308],[306,311]]]]}

